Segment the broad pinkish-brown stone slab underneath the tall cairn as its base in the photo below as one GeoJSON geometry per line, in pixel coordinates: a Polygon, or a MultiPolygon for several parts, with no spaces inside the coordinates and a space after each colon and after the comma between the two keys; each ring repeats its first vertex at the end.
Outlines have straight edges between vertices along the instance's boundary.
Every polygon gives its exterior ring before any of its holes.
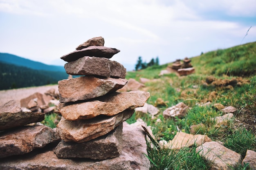
{"type": "Polygon", "coordinates": [[[149,170],[145,133],[124,122],[123,149],[119,157],[97,161],[92,159],[60,159],[52,149],[34,150],[19,157],[0,159],[1,170],[149,170]]]}

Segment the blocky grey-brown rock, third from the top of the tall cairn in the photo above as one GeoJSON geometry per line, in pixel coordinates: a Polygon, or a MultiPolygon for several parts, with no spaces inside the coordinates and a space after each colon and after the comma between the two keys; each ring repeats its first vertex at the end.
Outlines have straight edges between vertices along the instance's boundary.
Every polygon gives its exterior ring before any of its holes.
{"type": "Polygon", "coordinates": [[[125,78],[126,69],[116,61],[99,57],[82,57],[65,64],[65,70],[70,75],[96,75],[103,77],[125,78]]]}

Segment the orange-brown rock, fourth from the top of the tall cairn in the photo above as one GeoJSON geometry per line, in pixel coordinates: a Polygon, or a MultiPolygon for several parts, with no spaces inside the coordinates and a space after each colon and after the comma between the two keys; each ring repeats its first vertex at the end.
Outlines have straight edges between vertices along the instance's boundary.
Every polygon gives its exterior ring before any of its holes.
{"type": "Polygon", "coordinates": [[[97,78],[90,75],[64,79],[58,81],[60,102],[75,102],[103,96],[122,88],[126,83],[127,81],[121,78],[97,78]]]}

